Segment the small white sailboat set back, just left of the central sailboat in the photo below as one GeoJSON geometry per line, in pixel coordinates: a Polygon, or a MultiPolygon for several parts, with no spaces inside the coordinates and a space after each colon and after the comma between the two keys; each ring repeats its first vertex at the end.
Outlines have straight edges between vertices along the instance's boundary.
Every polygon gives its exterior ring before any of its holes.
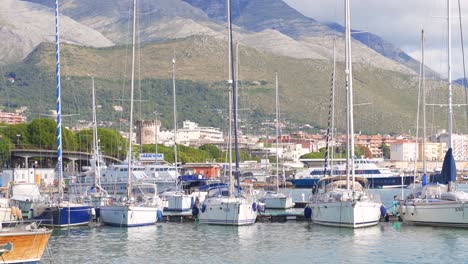
{"type": "MultiPolygon", "coordinates": [[[[174,99],[174,168],[177,174],[177,107],[176,107],[176,83],[175,83],[175,56],[172,58],[172,87],[174,99]]],[[[178,179],[175,179],[175,190],[162,193],[167,200],[165,211],[189,211],[195,203],[195,197],[187,195],[181,186],[178,185],[178,179]]]]}

